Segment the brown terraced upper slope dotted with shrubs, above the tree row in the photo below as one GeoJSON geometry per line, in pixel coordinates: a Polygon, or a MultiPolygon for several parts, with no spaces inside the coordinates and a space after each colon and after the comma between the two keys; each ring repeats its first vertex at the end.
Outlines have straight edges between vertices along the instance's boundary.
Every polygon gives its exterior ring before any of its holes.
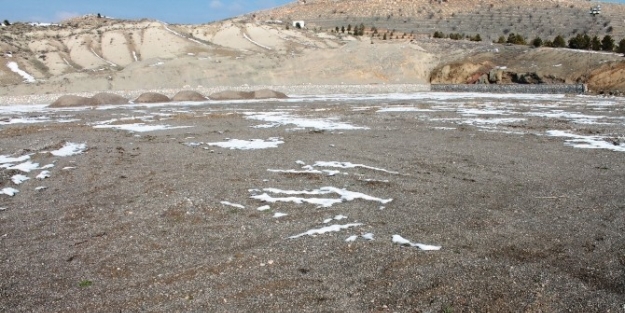
{"type": "Polygon", "coordinates": [[[307,0],[256,14],[271,20],[304,20],[323,30],[348,25],[431,35],[480,34],[496,40],[508,33],[526,38],[565,38],[578,33],[625,38],[625,5],[582,0],[307,0]],[[602,13],[591,15],[600,4],[602,13]]]}

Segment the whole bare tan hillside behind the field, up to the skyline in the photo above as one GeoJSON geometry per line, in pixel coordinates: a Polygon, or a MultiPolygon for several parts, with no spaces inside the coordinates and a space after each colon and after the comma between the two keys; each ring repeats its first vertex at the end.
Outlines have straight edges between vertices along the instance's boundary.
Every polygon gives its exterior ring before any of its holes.
{"type": "Polygon", "coordinates": [[[307,0],[202,25],[95,15],[52,25],[14,23],[0,27],[0,58],[7,65],[0,66],[0,95],[472,83],[496,68],[505,69],[499,83],[527,76],[535,82],[588,83],[595,92],[625,91],[625,66],[616,53],[492,43],[511,33],[528,40],[580,33],[610,34],[617,42],[625,38],[623,19],[617,18],[625,6],[602,3],[602,13],[592,16],[593,5],[575,0],[307,0]],[[340,30],[357,26],[361,34],[340,30]],[[479,34],[483,41],[434,39],[434,31],[479,34]]]}

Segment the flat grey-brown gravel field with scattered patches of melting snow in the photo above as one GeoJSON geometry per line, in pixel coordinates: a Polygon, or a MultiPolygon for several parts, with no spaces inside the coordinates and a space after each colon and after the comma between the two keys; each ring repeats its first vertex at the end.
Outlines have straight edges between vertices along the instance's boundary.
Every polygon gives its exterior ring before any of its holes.
{"type": "Polygon", "coordinates": [[[623,312],[624,136],[583,96],[0,106],[0,311],[623,312]]]}

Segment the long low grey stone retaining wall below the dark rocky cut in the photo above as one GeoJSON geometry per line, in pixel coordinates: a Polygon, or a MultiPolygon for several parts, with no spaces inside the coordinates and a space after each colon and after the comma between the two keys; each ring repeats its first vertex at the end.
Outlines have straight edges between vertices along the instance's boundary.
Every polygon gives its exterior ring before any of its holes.
{"type": "Polygon", "coordinates": [[[536,93],[536,94],[584,94],[588,87],[584,84],[519,84],[519,85],[497,85],[497,84],[472,84],[472,85],[446,85],[433,84],[432,91],[446,92],[489,92],[489,93],[536,93]]]}

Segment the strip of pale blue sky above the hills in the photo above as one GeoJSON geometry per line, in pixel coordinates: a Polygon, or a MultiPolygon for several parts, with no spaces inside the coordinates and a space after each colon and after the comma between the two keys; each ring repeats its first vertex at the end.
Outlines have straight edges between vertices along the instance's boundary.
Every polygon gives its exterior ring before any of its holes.
{"type": "MultiPolygon", "coordinates": [[[[96,14],[151,18],[168,23],[201,24],[281,6],[295,0],[0,0],[0,21],[59,22],[96,14]]],[[[625,0],[609,2],[625,3],[625,0]]],[[[596,3],[595,1],[589,2],[596,3]]]]}

